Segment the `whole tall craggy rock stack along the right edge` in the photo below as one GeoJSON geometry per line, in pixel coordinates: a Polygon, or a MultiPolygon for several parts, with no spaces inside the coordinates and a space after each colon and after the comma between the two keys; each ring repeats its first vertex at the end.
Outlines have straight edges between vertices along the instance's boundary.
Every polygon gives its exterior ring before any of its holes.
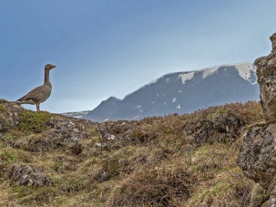
{"type": "Polygon", "coordinates": [[[270,55],[255,61],[265,122],[249,126],[237,164],[246,177],[268,190],[266,206],[276,206],[276,33],[270,55]]]}

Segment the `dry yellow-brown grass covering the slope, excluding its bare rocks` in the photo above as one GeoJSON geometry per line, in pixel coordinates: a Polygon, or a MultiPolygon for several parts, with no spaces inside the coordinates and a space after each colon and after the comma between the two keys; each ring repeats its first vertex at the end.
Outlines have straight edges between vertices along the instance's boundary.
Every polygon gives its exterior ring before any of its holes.
{"type": "Polygon", "coordinates": [[[0,141],[0,206],[254,206],[251,192],[262,204],[265,193],[253,190],[253,181],[235,164],[242,137],[196,144],[193,135],[185,133],[188,123],[204,121],[216,112],[233,113],[244,125],[263,120],[255,102],[150,117],[133,122],[135,126],[130,122],[128,134],[115,139],[110,148],[96,148],[102,139],[91,129],[92,137],[79,143],[80,155],[68,149],[16,148],[14,140],[40,139],[41,134],[9,133],[0,141]],[[12,186],[6,176],[11,164],[42,166],[55,185],[12,186]]]}

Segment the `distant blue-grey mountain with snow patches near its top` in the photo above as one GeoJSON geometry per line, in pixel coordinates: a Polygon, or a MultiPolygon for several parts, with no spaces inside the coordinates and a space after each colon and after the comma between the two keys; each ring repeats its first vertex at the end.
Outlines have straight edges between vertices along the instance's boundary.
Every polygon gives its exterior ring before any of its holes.
{"type": "Polygon", "coordinates": [[[259,100],[255,68],[252,63],[237,63],[164,75],[122,100],[102,101],[83,118],[133,120],[249,100],[259,100]]]}

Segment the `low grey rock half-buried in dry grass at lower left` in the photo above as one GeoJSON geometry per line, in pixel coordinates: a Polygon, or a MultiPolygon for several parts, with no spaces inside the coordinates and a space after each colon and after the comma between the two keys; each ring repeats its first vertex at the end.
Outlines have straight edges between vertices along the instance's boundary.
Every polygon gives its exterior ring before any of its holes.
{"type": "Polygon", "coordinates": [[[54,181],[43,173],[42,168],[32,166],[11,166],[8,176],[14,185],[41,187],[54,184],[54,181]]]}

